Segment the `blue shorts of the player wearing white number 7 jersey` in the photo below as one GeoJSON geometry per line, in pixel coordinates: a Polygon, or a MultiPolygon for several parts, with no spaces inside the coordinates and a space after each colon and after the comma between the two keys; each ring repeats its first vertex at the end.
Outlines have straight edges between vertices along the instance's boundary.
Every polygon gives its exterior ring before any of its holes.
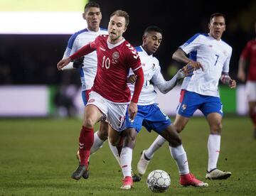
{"type": "Polygon", "coordinates": [[[177,113],[184,117],[193,116],[196,109],[200,109],[204,116],[217,112],[223,116],[223,104],[219,97],[206,96],[196,92],[181,90],[181,98],[177,107],[177,113]]]}

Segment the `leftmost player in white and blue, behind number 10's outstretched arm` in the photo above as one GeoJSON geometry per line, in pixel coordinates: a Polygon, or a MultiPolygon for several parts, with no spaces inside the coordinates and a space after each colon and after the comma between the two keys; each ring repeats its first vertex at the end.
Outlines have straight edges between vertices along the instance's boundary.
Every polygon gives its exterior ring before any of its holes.
{"type": "MultiPolygon", "coordinates": [[[[68,40],[67,48],[63,58],[67,58],[76,51],[78,51],[82,46],[95,40],[95,38],[101,34],[107,34],[107,29],[100,28],[100,21],[102,19],[102,13],[100,11],[100,5],[95,2],[89,2],[85,5],[84,13],[82,13],[82,18],[87,22],[87,28],[82,29],[74,33],[68,40]]],[[[89,93],[91,91],[93,82],[95,80],[95,75],[97,72],[97,53],[92,52],[85,55],[82,58],[70,62],[63,70],[68,70],[70,68],[78,68],[80,72],[80,79],[82,84],[82,101],[84,105],[87,104],[89,99],[89,93]],[[85,66],[83,66],[85,65],[85,66]]],[[[90,153],[97,151],[104,141],[107,139],[108,124],[105,121],[100,121],[100,130],[95,131],[93,146],[90,153]]],[[[79,152],[79,151],[78,151],[79,152]]],[[[80,158],[78,153],[78,158],[80,158]]],[[[87,168],[83,178],[87,179],[89,177],[89,170],[87,168]]]]}

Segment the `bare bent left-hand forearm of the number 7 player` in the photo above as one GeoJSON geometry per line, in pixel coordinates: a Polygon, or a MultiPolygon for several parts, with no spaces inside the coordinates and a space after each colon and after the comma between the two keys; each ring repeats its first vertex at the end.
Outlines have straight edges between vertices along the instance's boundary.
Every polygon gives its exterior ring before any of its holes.
{"type": "Polygon", "coordinates": [[[198,70],[200,68],[203,70],[201,63],[187,58],[186,53],[181,48],[178,48],[178,50],[175,51],[175,53],[172,55],[172,58],[178,62],[184,62],[191,65],[194,70],[198,70]]]}

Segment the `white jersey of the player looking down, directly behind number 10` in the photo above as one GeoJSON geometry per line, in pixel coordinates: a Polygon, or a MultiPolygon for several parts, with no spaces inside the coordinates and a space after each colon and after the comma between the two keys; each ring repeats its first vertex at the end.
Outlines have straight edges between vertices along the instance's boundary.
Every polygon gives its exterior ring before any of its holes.
{"type": "MultiPolygon", "coordinates": [[[[142,87],[142,92],[139,94],[138,105],[154,104],[156,99],[156,91],[154,90],[154,86],[157,87],[157,85],[163,84],[166,81],[161,74],[159,60],[157,60],[157,58],[155,58],[153,55],[148,55],[142,46],[136,47],[136,50],[142,62],[142,69],[144,72],[144,85],[142,87]],[[154,85],[152,85],[151,82],[154,85]]],[[[129,75],[132,74],[134,73],[132,70],[130,70],[129,75]]],[[[128,87],[133,95],[134,85],[128,83],[128,87]]]]}

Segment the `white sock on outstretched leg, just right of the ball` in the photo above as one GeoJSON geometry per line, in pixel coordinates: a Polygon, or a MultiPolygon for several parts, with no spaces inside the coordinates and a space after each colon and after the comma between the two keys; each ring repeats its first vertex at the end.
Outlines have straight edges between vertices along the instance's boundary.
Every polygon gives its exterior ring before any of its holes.
{"type": "Polygon", "coordinates": [[[174,160],[176,161],[176,165],[178,166],[178,173],[180,175],[188,174],[188,158],[186,157],[186,151],[184,150],[182,144],[181,146],[177,146],[175,148],[169,146],[169,148],[171,156],[174,158],[174,160]]]}

